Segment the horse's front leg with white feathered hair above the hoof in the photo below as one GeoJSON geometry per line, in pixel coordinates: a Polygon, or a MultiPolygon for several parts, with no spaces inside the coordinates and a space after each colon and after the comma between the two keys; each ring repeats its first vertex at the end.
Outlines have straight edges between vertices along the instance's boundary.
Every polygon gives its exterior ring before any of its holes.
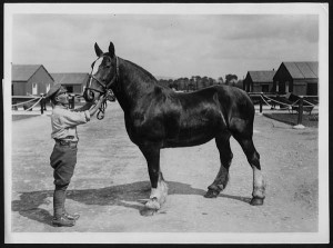
{"type": "Polygon", "coordinates": [[[140,146],[140,149],[147,160],[151,182],[151,194],[145,207],[158,210],[167,200],[168,195],[168,185],[160,170],[160,148],[155,143],[151,143],[140,146]]]}

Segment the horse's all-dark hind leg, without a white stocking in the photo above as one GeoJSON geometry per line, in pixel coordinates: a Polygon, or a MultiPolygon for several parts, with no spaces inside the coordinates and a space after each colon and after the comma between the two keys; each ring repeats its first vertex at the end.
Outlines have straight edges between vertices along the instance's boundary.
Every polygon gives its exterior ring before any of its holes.
{"type": "Polygon", "coordinates": [[[212,185],[208,188],[208,192],[204,195],[206,198],[215,198],[222,191],[229,180],[229,168],[232,160],[232,151],[230,149],[230,133],[224,133],[221,137],[215,138],[216,147],[220,152],[221,167],[218,172],[218,176],[212,185]]]}

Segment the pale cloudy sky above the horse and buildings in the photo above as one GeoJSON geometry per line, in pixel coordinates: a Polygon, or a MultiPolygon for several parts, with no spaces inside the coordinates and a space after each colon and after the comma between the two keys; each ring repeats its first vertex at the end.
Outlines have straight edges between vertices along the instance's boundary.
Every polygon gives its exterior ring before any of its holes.
{"type": "MultiPolygon", "coordinates": [[[[161,12],[161,11],[160,11],[161,12]]],[[[319,16],[186,13],[16,13],[14,65],[50,72],[90,72],[94,42],[155,77],[242,79],[282,61],[319,60],[319,16]]]]}

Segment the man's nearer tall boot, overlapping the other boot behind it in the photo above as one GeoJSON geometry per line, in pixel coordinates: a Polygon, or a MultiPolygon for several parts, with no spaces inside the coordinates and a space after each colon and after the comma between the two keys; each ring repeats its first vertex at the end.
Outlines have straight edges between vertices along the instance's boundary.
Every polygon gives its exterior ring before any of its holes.
{"type": "Polygon", "coordinates": [[[74,220],[70,220],[63,216],[63,200],[64,200],[64,190],[56,186],[53,194],[53,226],[58,227],[72,227],[75,225],[74,220]]]}

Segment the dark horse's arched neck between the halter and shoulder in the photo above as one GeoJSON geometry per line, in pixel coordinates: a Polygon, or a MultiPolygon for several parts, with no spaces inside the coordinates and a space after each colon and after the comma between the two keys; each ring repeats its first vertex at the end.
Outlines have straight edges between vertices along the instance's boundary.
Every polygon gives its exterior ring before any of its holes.
{"type": "Polygon", "coordinates": [[[113,91],[124,112],[130,111],[155,86],[155,79],[148,71],[119,58],[119,79],[113,91]]]}

